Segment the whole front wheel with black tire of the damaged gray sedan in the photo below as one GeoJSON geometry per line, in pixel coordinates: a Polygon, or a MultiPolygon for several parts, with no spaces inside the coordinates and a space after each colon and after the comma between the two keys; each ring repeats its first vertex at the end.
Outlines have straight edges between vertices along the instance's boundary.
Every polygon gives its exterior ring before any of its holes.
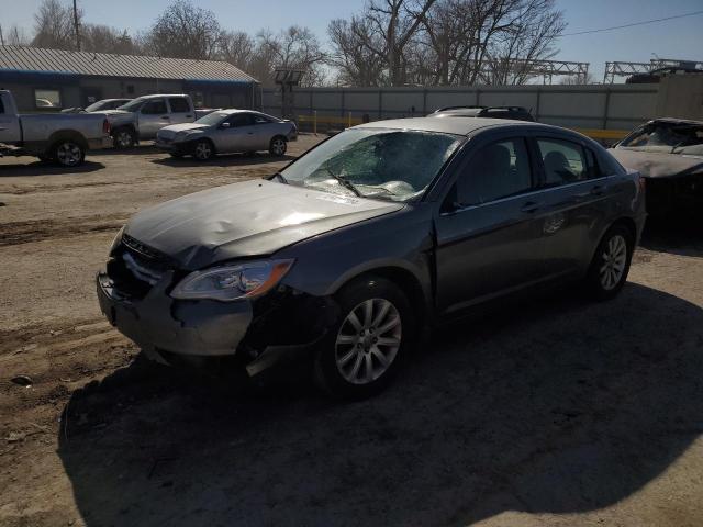
{"type": "Polygon", "coordinates": [[[315,382],[336,397],[365,399],[383,390],[410,355],[416,335],[414,310],[398,285],[379,277],[357,279],[335,298],[339,316],[316,349],[315,382]],[[371,301],[371,316],[365,319],[367,301],[371,301]],[[387,303],[390,307],[381,317],[387,303]],[[349,322],[353,312],[362,328],[355,328],[349,322]],[[400,324],[392,326],[395,318],[400,318],[400,324]],[[390,329],[384,329],[389,326],[390,329]],[[378,340],[399,341],[399,345],[378,340]]]}

